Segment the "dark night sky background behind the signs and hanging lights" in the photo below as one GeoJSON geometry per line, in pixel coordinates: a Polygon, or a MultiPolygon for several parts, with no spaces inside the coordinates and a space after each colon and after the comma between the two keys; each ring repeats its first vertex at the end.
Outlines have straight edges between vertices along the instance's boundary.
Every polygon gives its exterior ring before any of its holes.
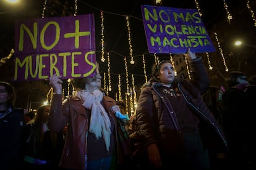
{"type": "MultiPolygon", "coordinates": [[[[38,1],[38,0],[20,0],[19,5],[8,5],[4,0],[0,1],[0,57],[6,57],[14,48],[14,22],[19,19],[41,18],[43,6],[45,5],[45,17],[61,17],[74,15],[75,1],[38,1]]],[[[256,75],[256,49],[249,46],[234,46],[234,41],[240,39],[245,44],[255,46],[256,26],[250,10],[247,9],[247,1],[226,1],[229,13],[233,19],[228,22],[227,12],[224,9],[223,0],[203,1],[197,0],[200,12],[203,14],[203,23],[207,27],[211,36],[211,41],[215,44],[216,52],[211,52],[210,62],[213,70],[208,69],[207,55],[197,54],[203,58],[205,67],[211,79],[212,85],[224,86],[224,77],[228,73],[225,71],[223,59],[229,71],[242,71],[247,76],[256,75]],[[216,41],[216,35],[218,41],[216,41]]],[[[127,71],[129,73],[129,84],[132,86],[131,75],[134,75],[134,85],[140,89],[145,83],[143,72],[142,55],[145,57],[146,72],[150,78],[151,67],[155,61],[153,54],[148,53],[145,32],[143,28],[141,5],[156,6],[155,1],[129,0],[129,1],[77,1],[77,15],[94,14],[95,15],[95,33],[96,33],[96,59],[100,63],[101,76],[106,75],[106,84],[108,80],[108,62],[105,54],[105,62],[101,62],[101,18],[100,12],[103,11],[104,17],[104,41],[105,52],[109,52],[111,89],[109,95],[116,97],[118,94],[118,75],[121,75],[122,99],[126,92],[126,67],[124,58],[127,59],[127,71]],[[126,16],[129,16],[131,44],[135,64],[131,65],[128,31],[126,26],[126,16]]],[[[256,1],[250,1],[250,7],[256,11],[256,1]]],[[[161,6],[177,7],[186,9],[196,9],[195,1],[163,0],[161,6]]],[[[160,60],[168,59],[168,54],[156,54],[160,60]]],[[[15,57],[15,54],[14,54],[15,57]]],[[[12,57],[13,59],[13,57],[12,57]]],[[[12,82],[13,60],[0,67],[0,80],[8,81],[16,87],[17,107],[32,108],[37,107],[46,100],[49,91],[48,81],[35,82],[12,82]]],[[[67,80],[64,80],[65,94],[67,94],[67,80]]],[[[104,86],[104,79],[103,79],[104,86]]],[[[70,87],[70,89],[72,89],[70,87]]]]}

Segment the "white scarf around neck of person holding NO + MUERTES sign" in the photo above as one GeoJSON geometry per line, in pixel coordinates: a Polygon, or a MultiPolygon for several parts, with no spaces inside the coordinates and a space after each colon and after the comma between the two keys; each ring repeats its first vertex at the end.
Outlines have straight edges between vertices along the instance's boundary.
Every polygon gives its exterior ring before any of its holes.
{"type": "Polygon", "coordinates": [[[89,132],[95,134],[96,139],[103,136],[105,140],[106,149],[109,150],[111,123],[106,113],[105,108],[101,105],[103,93],[100,90],[93,92],[77,91],[75,95],[82,100],[83,107],[92,110],[89,132]]]}

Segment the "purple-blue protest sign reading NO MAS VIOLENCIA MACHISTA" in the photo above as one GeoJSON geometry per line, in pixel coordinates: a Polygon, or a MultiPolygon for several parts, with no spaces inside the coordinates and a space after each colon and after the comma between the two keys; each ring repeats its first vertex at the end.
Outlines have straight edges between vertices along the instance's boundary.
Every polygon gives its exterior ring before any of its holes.
{"type": "Polygon", "coordinates": [[[202,18],[196,9],[141,6],[148,51],[158,54],[214,52],[202,18]]]}

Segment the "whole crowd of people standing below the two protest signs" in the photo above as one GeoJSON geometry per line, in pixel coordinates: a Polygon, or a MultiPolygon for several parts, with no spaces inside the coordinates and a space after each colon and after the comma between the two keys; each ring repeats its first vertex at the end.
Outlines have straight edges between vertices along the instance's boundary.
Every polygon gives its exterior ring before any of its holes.
{"type": "Polygon", "coordinates": [[[50,105],[15,108],[15,89],[0,82],[1,169],[256,169],[255,76],[228,73],[210,86],[202,59],[184,54],[191,79],[169,60],[153,66],[130,118],[126,104],[101,88],[101,75],[74,78],[62,97],[52,75],[50,105]],[[121,113],[121,116],[118,115],[121,113]]]}

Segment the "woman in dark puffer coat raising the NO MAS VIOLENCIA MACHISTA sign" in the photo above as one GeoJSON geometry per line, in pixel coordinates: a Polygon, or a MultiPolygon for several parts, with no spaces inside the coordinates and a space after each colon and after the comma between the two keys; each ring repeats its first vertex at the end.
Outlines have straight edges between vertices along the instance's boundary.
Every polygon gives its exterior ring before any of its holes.
{"type": "Polygon", "coordinates": [[[177,79],[170,61],[153,67],[137,103],[139,139],[155,169],[210,169],[208,147],[224,157],[227,141],[201,95],[209,79],[202,59],[188,49],[191,81],[177,79]]]}

